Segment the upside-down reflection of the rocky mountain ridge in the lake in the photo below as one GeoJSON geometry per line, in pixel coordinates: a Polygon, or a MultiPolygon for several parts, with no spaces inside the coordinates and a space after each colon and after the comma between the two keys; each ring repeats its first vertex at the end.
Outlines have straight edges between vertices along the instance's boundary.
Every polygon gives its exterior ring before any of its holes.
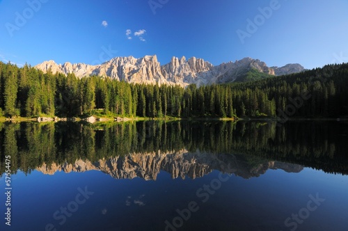
{"type": "Polygon", "coordinates": [[[191,179],[203,177],[212,170],[235,174],[245,179],[259,177],[268,169],[283,169],[289,173],[299,173],[303,166],[287,164],[279,161],[267,161],[258,158],[258,164],[251,165],[248,161],[232,154],[210,154],[205,152],[143,152],[129,153],[125,156],[100,159],[94,163],[89,160],[77,159],[74,164],[43,164],[36,170],[44,174],[54,174],[63,170],[65,173],[101,170],[116,179],[156,180],[161,170],[170,173],[173,179],[188,176],[191,179]]]}

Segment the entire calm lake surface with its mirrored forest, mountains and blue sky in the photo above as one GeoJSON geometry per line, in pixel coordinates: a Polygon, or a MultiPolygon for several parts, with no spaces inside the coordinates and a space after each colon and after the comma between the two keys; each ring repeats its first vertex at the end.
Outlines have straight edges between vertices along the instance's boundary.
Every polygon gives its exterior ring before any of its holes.
{"type": "Polygon", "coordinates": [[[0,150],[0,230],[348,227],[347,122],[23,122],[0,150]]]}

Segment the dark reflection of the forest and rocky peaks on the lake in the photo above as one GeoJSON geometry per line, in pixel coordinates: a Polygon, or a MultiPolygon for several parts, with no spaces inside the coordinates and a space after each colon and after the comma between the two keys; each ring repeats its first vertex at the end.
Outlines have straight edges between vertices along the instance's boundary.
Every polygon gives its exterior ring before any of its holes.
{"type": "Polygon", "coordinates": [[[140,121],[0,124],[1,173],[102,170],[115,178],[254,177],[268,168],[348,173],[347,122],[140,121]],[[287,164],[285,164],[285,163],[287,164]],[[300,166],[299,166],[300,165],[300,166]]]}

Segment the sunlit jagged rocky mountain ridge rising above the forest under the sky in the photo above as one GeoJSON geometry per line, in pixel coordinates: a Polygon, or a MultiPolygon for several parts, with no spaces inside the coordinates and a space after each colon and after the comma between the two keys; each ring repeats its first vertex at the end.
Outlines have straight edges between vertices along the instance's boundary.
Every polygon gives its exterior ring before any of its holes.
{"type": "Polygon", "coordinates": [[[74,73],[77,77],[99,75],[129,83],[177,84],[180,86],[187,86],[190,83],[200,86],[239,81],[250,70],[270,75],[291,74],[304,70],[299,64],[268,67],[266,63],[253,58],[243,58],[235,63],[228,62],[214,66],[202,58],[192,57],[187,60],[182,56],[182,58],[173,57],[170,63],[161,65],[157,61],[156,55],[143,58],[116,57],[101,65],[84,63],[61,65],[54,61],[45,61],[35,67],[43,72],[51,70],[53,73],[74,73]]]}

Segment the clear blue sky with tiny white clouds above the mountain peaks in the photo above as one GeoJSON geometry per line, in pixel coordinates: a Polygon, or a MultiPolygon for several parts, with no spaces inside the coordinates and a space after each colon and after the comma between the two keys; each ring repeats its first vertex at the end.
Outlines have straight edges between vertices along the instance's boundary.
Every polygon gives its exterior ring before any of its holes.
{"type": "Polygon", "coordinates": [[[0,0],[0,61],[97,64],[157,54],[161,64],[248,56],[321,67],[348,62],[347,10],[346,0],[0,0]]]}

